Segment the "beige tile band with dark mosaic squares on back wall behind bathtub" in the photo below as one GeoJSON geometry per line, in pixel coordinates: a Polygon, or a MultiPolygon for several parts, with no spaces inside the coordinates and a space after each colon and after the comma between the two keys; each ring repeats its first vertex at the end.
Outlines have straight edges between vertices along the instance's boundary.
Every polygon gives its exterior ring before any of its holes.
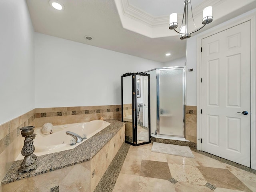
{"type": "Polygon", "coordinates": [[[34,111],[36,127],[42,127],[48,122],[62,125],[88,122],[100,117],[121,121],[122,115],[121,105],[36,108],[34,111]]]}

